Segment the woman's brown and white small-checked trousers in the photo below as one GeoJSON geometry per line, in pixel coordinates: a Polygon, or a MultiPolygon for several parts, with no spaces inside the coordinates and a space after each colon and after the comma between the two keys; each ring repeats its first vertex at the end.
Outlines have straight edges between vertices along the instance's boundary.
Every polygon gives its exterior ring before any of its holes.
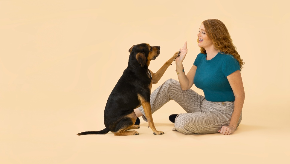
{"type": "MultiPolygon", "coordinates": [[[[233,113],[234,102],[210,102],[204,96],[192,89],[183,91],[180,83],[168,79],[155,89],[150,97],[152,114],[170,100],[177,102],[187,113],[181,113],[175,118],[174,128],[183,134],[218,133],[222,126],[228,126],[233,113]]],[[[138,108],[147,121],[143,107],[138,108]]],[[[241,123],[242,112],[237,127],[241,123]]]]}

